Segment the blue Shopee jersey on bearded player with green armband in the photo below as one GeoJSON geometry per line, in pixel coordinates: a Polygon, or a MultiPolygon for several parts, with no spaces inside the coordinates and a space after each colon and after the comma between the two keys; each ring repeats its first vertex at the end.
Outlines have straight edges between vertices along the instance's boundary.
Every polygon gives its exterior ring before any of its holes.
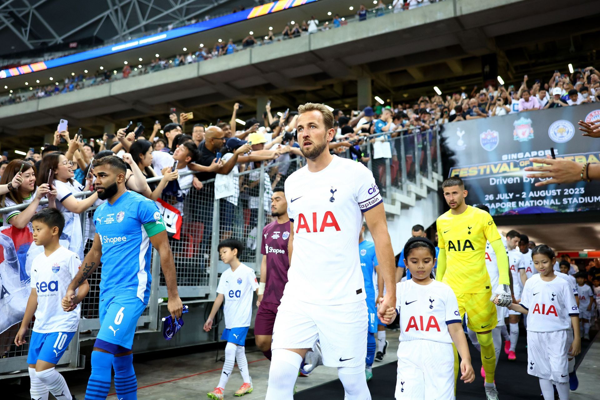
{"type": "Polygon", "coordinates": [[[114,204],[105,201],[94,212],[102,243],[100,299],[113,296],[150,297],[150,237],[166,227],[154,201],[127,191],[114,204]]]}

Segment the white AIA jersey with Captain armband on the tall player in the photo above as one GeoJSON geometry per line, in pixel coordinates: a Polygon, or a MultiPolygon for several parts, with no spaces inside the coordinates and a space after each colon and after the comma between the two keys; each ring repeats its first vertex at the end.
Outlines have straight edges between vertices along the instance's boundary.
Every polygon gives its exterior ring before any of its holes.
{"type": "Polygon", "coordinates": [[[333,156],[325,169],[304,166],[286,179],[293,251],[284,297],[314,304],[365,299],[358,252],[362,213],[382,203],[373,173],[333,156]]]}

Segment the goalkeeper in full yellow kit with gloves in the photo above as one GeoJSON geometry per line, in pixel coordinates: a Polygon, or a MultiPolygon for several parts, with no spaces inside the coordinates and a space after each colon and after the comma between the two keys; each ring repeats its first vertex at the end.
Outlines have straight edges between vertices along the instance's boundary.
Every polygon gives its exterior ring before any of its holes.
{"type": "MultiPolygon", "coordinates": [[[[463,180],[448,178],[442,184],[450,210],[437,218],[437,236],[440,254],[437,258],[436,279],[448,284],[458,300],[461,318],[466,313],[469,328],[477,333],[481,345],[481,362],[485,370],[485,395],[487,400],[497,400],[494,385],[496,352],[491,330],[496,327],[496,306],[512,303],[509,288],[509,267],[506,249],[491,215],[484,210],[467,206],[463,180]],[[490,242],[496,252],[499,285],[490,285],[490,275],[485,267],[485,245],[490,242]]],[[[455,372],[458,372],[458,354],[454,351],[455,372]]]]}

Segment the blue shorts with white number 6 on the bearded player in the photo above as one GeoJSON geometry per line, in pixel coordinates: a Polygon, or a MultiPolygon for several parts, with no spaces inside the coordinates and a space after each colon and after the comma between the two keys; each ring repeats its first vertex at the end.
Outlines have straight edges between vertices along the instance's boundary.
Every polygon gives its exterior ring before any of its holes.
{"type": "Polygon", "coordinates": [[[98,339],[131,350],[137,320],[146,305],[137,297],[115,296],[100,300],[98,339]]]}

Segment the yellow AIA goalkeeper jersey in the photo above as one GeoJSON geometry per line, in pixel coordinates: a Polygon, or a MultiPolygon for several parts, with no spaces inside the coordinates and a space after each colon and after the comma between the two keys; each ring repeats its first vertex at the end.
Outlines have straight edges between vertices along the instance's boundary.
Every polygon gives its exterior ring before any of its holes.
{"type": "Polygon", "coordinates": [[[485,267],[485,245],[500,239],[488,212],[467,206],[454,215],[448,210],[437,218],[440,249],[446,250],[446,272],[442,282],[455,293],[484,293],[493,290],[485,267]]]}

